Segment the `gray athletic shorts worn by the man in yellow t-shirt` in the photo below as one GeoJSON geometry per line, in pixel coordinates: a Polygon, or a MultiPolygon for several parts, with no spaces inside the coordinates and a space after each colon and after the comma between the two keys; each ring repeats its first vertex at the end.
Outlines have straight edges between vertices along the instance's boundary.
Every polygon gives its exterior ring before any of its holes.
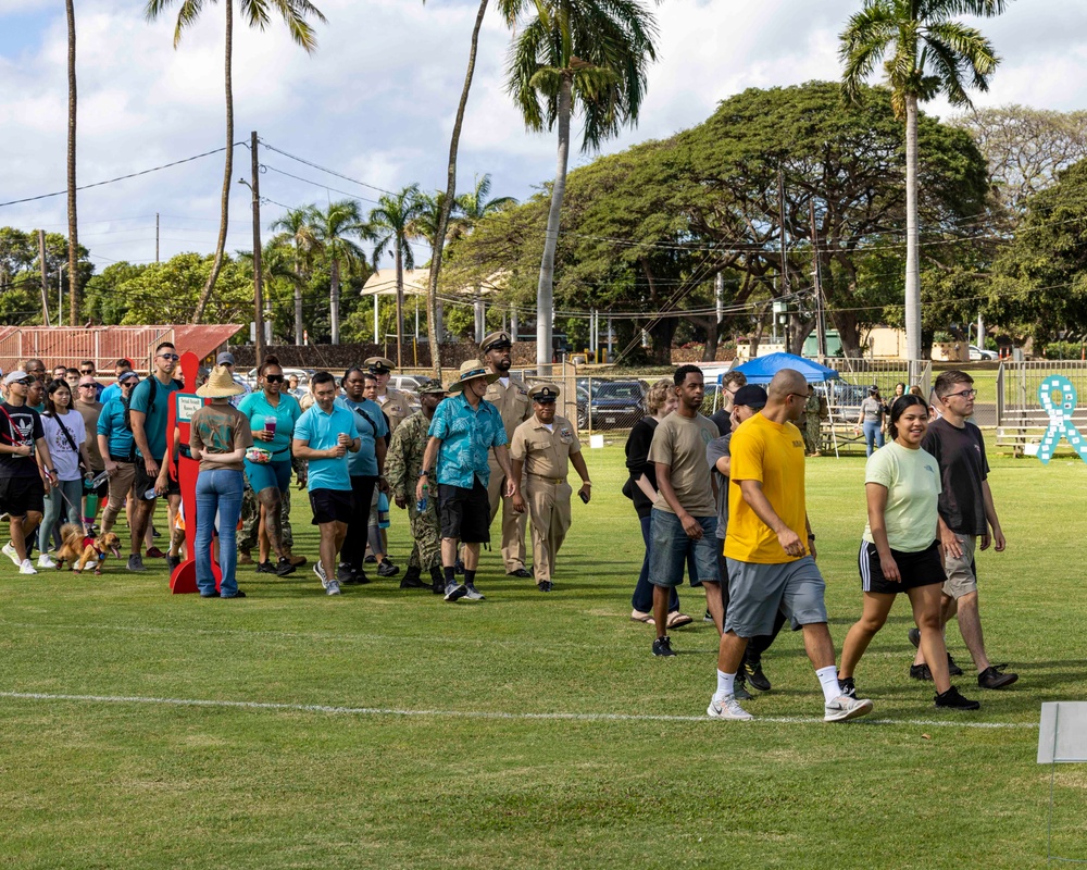
{"type": "Polygon", "coordinates": [[[789,618],[792,631],[826,622],[826,582],[811,556],[782,564],[727,561],[726,632],[739,637],[771,634],[778,610],[789,618]]]}

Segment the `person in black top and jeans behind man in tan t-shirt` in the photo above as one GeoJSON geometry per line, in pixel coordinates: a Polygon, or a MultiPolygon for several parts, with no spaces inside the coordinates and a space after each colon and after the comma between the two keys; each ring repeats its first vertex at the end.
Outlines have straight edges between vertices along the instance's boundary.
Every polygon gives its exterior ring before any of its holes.
{"type": "MultiPolygon", "coordinates": [[[[646,409],[649,411],[634,424],[626,439],[626,468],[630,474],[623,487],[623,494],[634,501],[634,510],[638,514],[641,526],[641,539],[646,545],[646,555],[641,560],[641,573],[630,596],[630,619],[634,622],[645,622],[655,625],[653,619],[653,584],[649,582],[649,563],[652,561],[653,542],[650,536],[653,502],[657,501],[657,467],[649,461],[649,448],[653,443],[657,426],[679,405],[675,384],[672,378],[662,377],[649,388],[646,395],[646,409]]],[[[687,573],[695,577],[697,569],[694,561],[687,560],[687,573]]],[[[712,617],[711,617],[712,619],[712,617]]],[[[669,629],[689,625],[694,620],[679,611],[679,595],[675,587],[669,593],[669,629]]]]}

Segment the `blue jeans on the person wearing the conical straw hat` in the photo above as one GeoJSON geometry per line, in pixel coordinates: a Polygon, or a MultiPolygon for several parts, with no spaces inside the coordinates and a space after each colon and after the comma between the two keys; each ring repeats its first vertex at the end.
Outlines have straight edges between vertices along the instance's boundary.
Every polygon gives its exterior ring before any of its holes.
{"type": "Polygon", "coordinates": [[[223,572],[220,595],[238,594],[238,518],[241,515],[241,493],[245,488],[240,471],[215,469],[201,471],[197,477],[197,586],[201,595],[215,592],[215,575],[211,571],[211,536],[218,512],[218,567],[223,572]]]}

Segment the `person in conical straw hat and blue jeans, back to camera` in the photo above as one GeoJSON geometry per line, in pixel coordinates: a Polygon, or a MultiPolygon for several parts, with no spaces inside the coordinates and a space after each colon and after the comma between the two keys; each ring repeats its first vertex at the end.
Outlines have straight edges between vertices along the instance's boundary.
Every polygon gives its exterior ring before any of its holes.
{"type": "Polygon", "coordinates": [[[215,595],[215,576],[211,570],[211,537],[218,513],[221,598],[245,598],[238,589],[235,569],[238,562],[237,526],[241,515],[241,493],[245,488],[242,468],[246,450],[253,445],[249,419],[230,407],[232,396],[245,393],[225,365],[212,369],[208,383],[197,388],[197,395],[211,399],[200,408],[189,424],[189,450],[200,462],[197,476],[197,586],[201,598],[215,595]]]}

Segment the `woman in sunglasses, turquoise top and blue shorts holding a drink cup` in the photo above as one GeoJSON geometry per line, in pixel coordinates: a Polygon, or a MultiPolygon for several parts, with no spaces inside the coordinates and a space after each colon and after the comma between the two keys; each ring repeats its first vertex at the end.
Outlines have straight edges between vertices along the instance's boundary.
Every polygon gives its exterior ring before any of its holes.
{"type": "Polygon", "coordinates": [[[279,537],[283,499],[290,488],[290,442],[295,423],[302,415],[298,400],[284,389],[283,369],[272,356],[264,359],[257,373],[262,387],[238,403],[253,433],[253,447],[271,453],[267,462],[253,462],[246,457],[246,477],[257,494],[267,536],[260,538],[260,561],[268,561],[268,551],[278,557],[275,573],[285,576],[295,571],[279,537]]]}

